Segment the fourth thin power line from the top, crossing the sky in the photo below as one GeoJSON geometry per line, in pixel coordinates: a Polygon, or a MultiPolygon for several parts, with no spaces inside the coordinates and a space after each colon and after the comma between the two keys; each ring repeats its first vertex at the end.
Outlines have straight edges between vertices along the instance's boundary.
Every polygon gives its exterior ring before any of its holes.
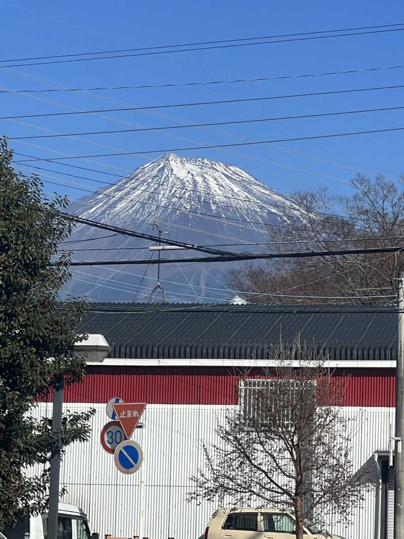
{"type": "MultiPolygon", "coordinates": [[[[404,29],[403,29],[404,30],[404,29]]],[[[223,103],[241,103],[248,101],[268,101],[271,99],[289,99],[289,98],[302,98],[316,95],[332,95],[332,94],[346,94],[353,92],[371,92],[374,90],[389,90],[396,88],[404,88],[404,85],[396,86],[376,86],[372,88],[354,88],[349,90],[332,90],[328,92],[310,92],[304,94],[287,94],[287,95],[273,95],[264,98],[242,98],[242,99],[227,99],[222,101],[199,101],[194,103],[175,103],[172,105],[151,105],[147,107],[126,107],[126,108],[108,108],[108,109],[95,109],[95,110],[78,110],[74,112],[54,112],[46,114],[23,114],[18,116],[1,116],[0,120],[14,120],[17,118],[43,118],[44,116],[69,116],[72,114],[95,114],[101,112],[125,112],[128,110],[149,110],[159,108],[176,108],[176,107],[196,107],[202,105],[222,105],[223,103]]]]}

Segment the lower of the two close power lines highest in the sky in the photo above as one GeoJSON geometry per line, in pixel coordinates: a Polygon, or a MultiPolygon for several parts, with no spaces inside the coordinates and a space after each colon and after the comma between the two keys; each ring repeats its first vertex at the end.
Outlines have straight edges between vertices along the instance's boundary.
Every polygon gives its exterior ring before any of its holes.
{"type": "MultiPolygon", "coordinates": [[[[172,49],[169,51],[150,51],[150,52],[136,52],[131,54],[113,54],[112,56],[96,56],[92,58],[71,58],[68,60],[51,60],[46,62],[31,62],[27,64],[6,64],[4,66],[0,66],[0,69],[3,67],[26,67],[26,66],[36,66],[36,65],[49,65],[49,64],[68,64],[68,63],[74,63],[74,62],[83,62],[83,61],[92,61],[92,60],[108,60],[108,59],[116,59],[116,58],[133,58],[137,56],[155,56],[159,54],[172,54],[172,53],[178,53],[178,52],[193,52],[193,51],[207,51],[207,50],[213,50],[213,49],[233,49],[235,47],[250,47],[253,45],[270,45],[274,43],[288,43],[288,42],[298,42],[298,41],[311,41],[311,40],[318,40],[318,39],[329,39],[329,38],[335,38],[335,37],[350,37],[350,36],[365,36],[369,34],[380,34],[380,33],[386,33],[386,32],[400,32],[404,30],[404,28],[393,28],[393,29],[386,29],[386,30],[367,30],[365,32],[350,32],[350,33],[336,33],[336,34],[329,34],[328,36],[311,36],[311,37],[296,37],[296,38],[290,38],[290,39],[276,39],[271,41],[256,41],[256,42],[250,42],[250,43],[236,43],[236,44],[227,44],[227,45],[210,45],[207,47],[191,47],[190,49],[172,49]]],[[[86,54],[86,53],[83,53],[86,54]]],[[[90,53],[91,54],[91,53],[90,53]]],[[[68,54],[67,56],[73,56],[72,54],[68,54]]],[[[52,58],[52,57],[49,57],[52,58]]],[[[3,60],[8,61],[8,60],[3,60]]],[[[12,60],[10,60],[12,61],[12,60]]]]}

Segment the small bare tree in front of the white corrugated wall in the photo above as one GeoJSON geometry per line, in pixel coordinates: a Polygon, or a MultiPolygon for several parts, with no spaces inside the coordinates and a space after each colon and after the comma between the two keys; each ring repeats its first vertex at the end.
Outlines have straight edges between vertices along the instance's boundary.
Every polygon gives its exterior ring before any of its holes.
{"type": "Polygon", "coordinates": [[[203,445],[189,500],[288,509],[302,539],[304,521],[350,522],[371,487],[365,471],[354,474],[352,419],[341,413],[348,378],[299,338],[270,356],[261,376],[240,377],[239,408],[217,425],[218,443],[203,445]]]}

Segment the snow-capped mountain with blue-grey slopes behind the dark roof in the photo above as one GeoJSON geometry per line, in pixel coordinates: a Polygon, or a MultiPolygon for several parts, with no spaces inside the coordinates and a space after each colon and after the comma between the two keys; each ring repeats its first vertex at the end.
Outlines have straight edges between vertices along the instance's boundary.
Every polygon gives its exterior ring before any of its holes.
{"type": "MultiPolygon", "coordinates": [[[[158,223],[164,230],[164,238],[199,245],[268,241],[269,225],[285,225],[301,215],[291,198],[234,165],[171,153],[142,165],[94,195],[80,198],[68,211],[156,236],[153,224],[158,223]]],[[[78,225],[68,240],[79,241],[63,247],[95,249],[75,251],[74,260],[151,257],[149,241],[123,236],[91,240],[108,235],[106,231],[78,225]],[[99,251],[99,248],[113,250],[99,251]]],[[[248,245],[218,248],[233,252],[265,250],[248,245]]],[[[194,251],[166,251],[162,256],[186,258],[194,254],[194,251]]],[[[169,301],[229,300],[234,293],[226,285],[227,275],[239,264],[162,265],[161,285],[169,301]]],[[[150,291],[156,285],[157,266],[83,266],[72,268],[72,272],[74,279],[64,289],[67,293],[86,295],[96,301],[149,301],[150,291]]],[[[156,300],[160,299],[157,292],[156,300]]]]}

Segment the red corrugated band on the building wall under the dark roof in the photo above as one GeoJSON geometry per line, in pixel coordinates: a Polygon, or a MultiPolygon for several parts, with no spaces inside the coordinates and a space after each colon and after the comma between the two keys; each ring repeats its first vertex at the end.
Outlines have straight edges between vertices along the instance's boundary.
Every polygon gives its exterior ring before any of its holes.
{"type": "MultiPolygon", "coordinates": [[[[337,381],[346,375],[345,406],[395,406],[395,369],[335,372],[337,381]]],[[[64,401],[105,403],[121,397],[148,404],[233,405],[238,381],[232,369],[224,367],[88,367],[82,382],[65,389],[64,401]]]]}

